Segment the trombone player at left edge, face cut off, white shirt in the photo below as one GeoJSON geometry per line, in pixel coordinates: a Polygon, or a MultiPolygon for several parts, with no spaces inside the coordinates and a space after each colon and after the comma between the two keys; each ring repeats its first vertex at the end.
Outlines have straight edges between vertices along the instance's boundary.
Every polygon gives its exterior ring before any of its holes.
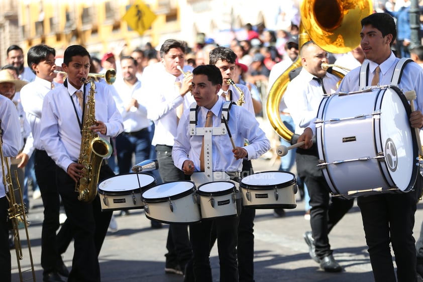
{"type": "MultiPolygon", "coordinates": [[[[18,113],[10,99],[0,96],[0,130],[2,131],[3,156],[14,157],[21,148],[21,130],[18,113]]],[[[2,162],[2,165],[5,165],[2,162]]],[[[3,170],[0,169],[3,179],[3,170]]],[[[0,181],[0,277],[2,281],[12,281],[11,250],[9,248],[9,200],[6,197],[7,187],[0,181]]]]}

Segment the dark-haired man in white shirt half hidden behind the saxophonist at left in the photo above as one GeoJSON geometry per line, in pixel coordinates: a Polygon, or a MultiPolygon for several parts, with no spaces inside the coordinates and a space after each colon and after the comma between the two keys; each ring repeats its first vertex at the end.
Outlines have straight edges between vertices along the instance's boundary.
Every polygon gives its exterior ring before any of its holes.
{"type": "Polygon", "coordinates": [[[56,164],[51,159],[41,143],[41,116],[44,97],[54,87],[56,76],[56,50],[39,44],[28,50],[28,64],[36,73],[35,80],[21,89],[22,106],[27,114],[34,137],[34,169],[37,183],[40,187],[44,206],[44,219],[41,232],[41,266],[43,279],[46,281],[61,281],[60,275],[67,277],[69,271],[63,263],[61,254],[72,240],[69,224],[65,223],[59,229],[60,198],[56,185],[56,164]]]}

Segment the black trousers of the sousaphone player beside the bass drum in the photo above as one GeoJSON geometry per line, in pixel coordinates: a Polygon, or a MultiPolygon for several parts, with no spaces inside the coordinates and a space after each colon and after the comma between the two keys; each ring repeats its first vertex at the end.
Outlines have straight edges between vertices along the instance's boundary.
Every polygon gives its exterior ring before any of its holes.
{"type": "Polygon", "coordinates": [[[295,158],[298,176],[307,185],[310,196],[310,225],[315,253],[322,259],[333,252],[329,244],[329,232],[352,208],[354,200],[330,197],[330,189],[322,170],[316,166],[319,163],[316,154],[316,148],[311,151],[297,149],[295,158]]]}

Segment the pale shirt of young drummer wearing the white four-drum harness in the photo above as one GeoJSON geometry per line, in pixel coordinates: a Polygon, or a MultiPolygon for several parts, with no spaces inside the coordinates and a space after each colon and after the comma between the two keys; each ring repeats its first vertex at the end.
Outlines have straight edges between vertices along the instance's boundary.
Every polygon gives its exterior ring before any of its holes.
{"type": "MultiPolygon", "coordinates": [[[[218,99],[218,102],[211,108],[213,112],[213,127],[221,126],[222,107],[224,102],[218,99]]],[[[189,159],[194,162],[194,171],[200,171],[200,159],[202,135],[189,135],[189,109],[185,110],[181,120],[179,121],[175,144],[173,145],[172,158],[175,166],[182,168],[185,160],[189,159]]],[[[208,110],[204,107],[198,108],[197,125],[204,127],[205,116],[208,110]]],[[[247,109],[233,105],[230,111],[230,119],[228,121],[229,130],[232,133],[235,146],[243,147],[248,152],[248,159],[257,159],[270,149],[269,139],[259,127],[254,114],[247,109]],[[244,146],[244,140],[249,140],[249,145],[244,146]]],[[[213,160],[213,171],[241,171],[242,159],[235,159],[232,152],[232,143],[229,135],[213,135],[212,137],[211,156],[213,160]]]]}

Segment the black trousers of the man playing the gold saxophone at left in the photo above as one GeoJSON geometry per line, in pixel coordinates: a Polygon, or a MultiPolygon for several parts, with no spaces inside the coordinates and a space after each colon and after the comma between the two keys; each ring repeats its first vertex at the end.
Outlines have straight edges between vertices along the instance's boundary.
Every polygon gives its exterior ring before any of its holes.
{"type": "MultiPolygon", "coordinates": [[[[101,212],[99,197],[91,203],[78,200],[75,181],[57,167],[57,186],[74,238],[72,270],[68,282],[99,282],[98,254],[109,228],[112,212],[101,212]]],[[[114,176],[109,165],[102,165],[99,181],[114,176]]]]}

